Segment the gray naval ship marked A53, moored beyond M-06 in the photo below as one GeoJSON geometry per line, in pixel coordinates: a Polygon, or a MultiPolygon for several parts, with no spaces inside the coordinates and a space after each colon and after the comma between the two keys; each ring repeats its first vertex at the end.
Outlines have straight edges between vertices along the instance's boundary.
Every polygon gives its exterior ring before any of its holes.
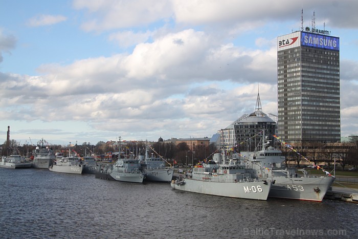
{"type": "Polygon", "coordinates": [[[253,169],[254,176],[274,181],[269,197],[321,202],[334,177],[309,176],[305,169],[299,169],[302,176],[298,176],[295,168],[283,168],[285,157],[270,142],[263,135],[258,145],[261,150],[240,152],[241,161],[253,169]]]}

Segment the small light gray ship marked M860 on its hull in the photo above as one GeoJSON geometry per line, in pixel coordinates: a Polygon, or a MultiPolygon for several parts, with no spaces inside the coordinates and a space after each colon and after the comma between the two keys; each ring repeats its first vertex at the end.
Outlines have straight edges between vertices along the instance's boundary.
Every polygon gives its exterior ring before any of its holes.
{"type": "Polygon", "coordinates": [[[81,174],[83,165],[80,164],[80,158],[76,155],[58,158],[53,165],[49,167],[53,172],[81,174]]]}

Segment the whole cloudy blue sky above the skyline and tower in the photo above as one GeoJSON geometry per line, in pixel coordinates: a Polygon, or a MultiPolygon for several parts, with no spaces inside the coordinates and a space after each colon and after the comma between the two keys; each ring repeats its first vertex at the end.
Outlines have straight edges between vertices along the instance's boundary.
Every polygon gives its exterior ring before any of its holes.
{"type": "MultiPolygon", "coordinates": [[[[277,115],[277,36],[341,41],[341,131],[358,134],[358,1],[0,0],[0,142],[211,137],[277,115]]],[[[30,142],[29,142],[30,143],[30,142]]]]}

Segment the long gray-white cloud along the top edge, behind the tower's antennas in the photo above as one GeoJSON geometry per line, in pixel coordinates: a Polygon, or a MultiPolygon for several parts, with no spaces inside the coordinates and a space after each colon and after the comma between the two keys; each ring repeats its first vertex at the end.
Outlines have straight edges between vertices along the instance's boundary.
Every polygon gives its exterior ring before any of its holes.
{"type": "MultiPolygon", "coordinates": [[[[296,26],[300,25],[300,11],[304,6],[304,23],[310,23],[313,11],[320,6],[322,15],[316,16],[317,23],[329,24],[332,27],[356,28],[358,17],[354,17],[358,2],[302,0],[282,4],[281,0],[253,0],[244,4],[238,0],[208,1],[155,1],[155,0],[75,0],[75,9],[88,12],[82,24],[85,31],[106,31],[111,29],[148,26],[171,18],[178,25],[219,25],[220,28],[236,29],[236,32],[247,31],[264,26],[267,22],[292,20],[297,15],[296,26]],[[341,16],[353,17],[341,17],[341,16]]],[[[309,25],[309,24],[308,24],[309,25]]],[[[292,26],[290,26],[292,27],[292,26]]],[[[217,30],[217,28],[216,28],[217,30]]]]}

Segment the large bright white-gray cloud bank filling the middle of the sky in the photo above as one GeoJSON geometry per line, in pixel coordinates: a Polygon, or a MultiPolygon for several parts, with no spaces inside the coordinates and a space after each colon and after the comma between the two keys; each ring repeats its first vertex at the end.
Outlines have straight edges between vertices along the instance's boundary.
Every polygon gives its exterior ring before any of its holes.
{"type": "MultiPolygon", "coordinates": [[[[254,62],[255,57],[261,56],[232,45],[210,45],[204,32],[189,29],[139,44],[130,55],[88,58],[68,66],[44,64],[38,69],[42,76],[9,76],[0,93],[2,99],[8,100],[0,102],[12,105],[6,110],[9,117],[19,116],[21,112],[29,121],[83,120],[103,131],[108,127],[123,130],[125,126],[133,131],[140,128],[151,131],[152,127],[163,131],[163,121],[158,119],[165,119],[165,125],[176,124],[184,135],[193,134],[190,131],[195,127],[199,127],[196,134],[208,130],[215,133],[241,115],[238,108],[248,107],[250,112],[254,109],[256,83],[250,88],[233,87],[230,91],[222,90],[217,83],[204,84],[190,93],[189,86],[192,82],[224,79],[222,73],[226,74],[225,79],[234,78],[238,69],[252,72],[250,67],[240,68],[234,64],[242,57],[254,62]],[[234,62],[233,66],[227,62],[234,62]],[[183,97],[178,99],[177,95],[183,97]],[[24,99],[27,111],[21,110],[24,99]],[[253,103],[247,106],[248,102],[253,103]],[[228,108],[231,110],[227,111],[228,108]],[[102,121],[110,123],[102,124],[102,121]],[[146,124],[151,128],[146,128],[146,124]]],[[[231,84],[235,85],[232,81],[231,84]]]]}

